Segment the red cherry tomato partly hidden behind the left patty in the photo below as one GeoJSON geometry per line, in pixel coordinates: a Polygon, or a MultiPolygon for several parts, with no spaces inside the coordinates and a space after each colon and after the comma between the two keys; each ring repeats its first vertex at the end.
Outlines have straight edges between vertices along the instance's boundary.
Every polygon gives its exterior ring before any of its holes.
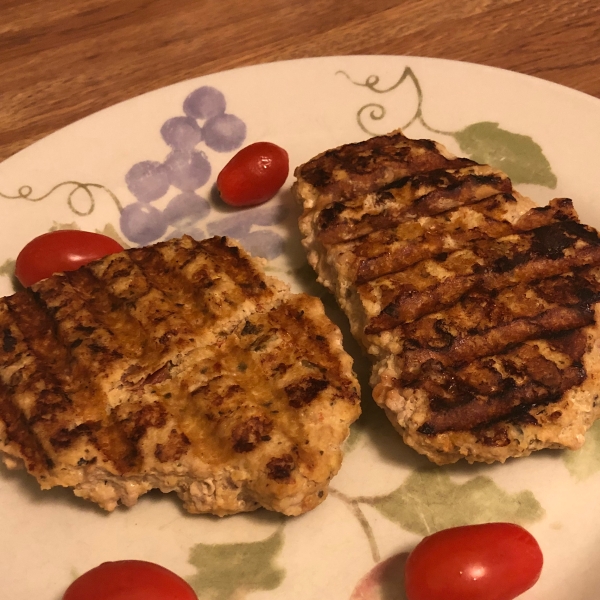
{"type": "Polygon", "coordinates": [[[31,240],[17,256],[15,275],[26,287],[54,273],[74,271],[123,247],[105,235],[61,229],[31,240]]]}

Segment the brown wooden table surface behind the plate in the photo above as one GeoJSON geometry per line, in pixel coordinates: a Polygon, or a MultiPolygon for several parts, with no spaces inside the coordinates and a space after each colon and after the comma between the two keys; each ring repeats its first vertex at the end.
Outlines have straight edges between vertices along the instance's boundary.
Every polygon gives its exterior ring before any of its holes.
{"type": "Polygon", "coordinates": [[[600,97],[600,2],[0,0],[0,160],[170,83],[335,54],[464,60],[600,97]]]}

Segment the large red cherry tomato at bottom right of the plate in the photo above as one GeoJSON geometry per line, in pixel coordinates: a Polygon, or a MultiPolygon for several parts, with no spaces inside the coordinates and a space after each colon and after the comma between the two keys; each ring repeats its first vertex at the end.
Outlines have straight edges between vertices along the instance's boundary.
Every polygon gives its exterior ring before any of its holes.
{"type": "Polygon", "coordinates": [[[513,600],[539,579],[542,551],[511,523],[454,527],[424,538],[406,561],[408,600],[513,600]]]}

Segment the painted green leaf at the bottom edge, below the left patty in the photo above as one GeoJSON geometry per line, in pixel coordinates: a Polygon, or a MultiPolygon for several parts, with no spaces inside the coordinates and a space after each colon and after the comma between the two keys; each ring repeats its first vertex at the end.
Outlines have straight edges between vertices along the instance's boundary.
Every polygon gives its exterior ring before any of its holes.
{"type": "Polygon", "coordinates": [[[237,600],[248,592],[273,590],[285,576],[273,565],[282,545],[281,529],[250,544],[196,544],[189,562],[197,573],[188,582],[200,600],[237,600]]]}

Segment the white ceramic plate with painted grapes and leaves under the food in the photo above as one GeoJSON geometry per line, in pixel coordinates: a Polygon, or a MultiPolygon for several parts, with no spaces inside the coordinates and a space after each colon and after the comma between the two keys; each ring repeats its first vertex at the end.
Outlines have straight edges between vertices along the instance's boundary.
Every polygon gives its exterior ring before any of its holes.
{"type": "MultiPolygon", "coordinates": [[[[266,255],[269,268],[294,287],[331,305],[301,251],[292,177],[270,203],[229,212],[212,191],[216,174],[241,144],[270,140],[297,165],[397,127],[491,161],[539,203],[572,197],[582,219],[600,226],[597,99],[467,63],[399,56],[308,59],[151,92],[2,163],[0,293],[12,292],[12,261],[28,240],[55,227],[78,227],[131,245],[182,231],[229,234],[266,255]],[[187,120],[163,128],[183,117],[184,108],[187,120]],[[233,116],[219,117],[223,110],[233,116]],[[217,116],[204,118],[210,115],[217,116]],[[181,149],[169,160],[161,128],[181,149]],[[170,204],[181,189],[188,193],[170,204]]],[[[357,357],[364,376],[366,365],[357,357]]],[[[138,558],[186,577],[206,600],[401,600],[406,552],[423,535],[485,521],[521,523],[543,548],[543,575],[523,598],[597,596],[600,428],[589,432],[578,452],[434,468],[403,446],[368,389],[364,398],[364,416],[331,495],[299,518],[266,511],[225,519],[190,516],[177,498],[158,492],[134,508],[105,514],[69,490],[42,492],[25,472],[0,469],[2,597],[58,600],[73,577],[100,562],[138,558]]]]}

